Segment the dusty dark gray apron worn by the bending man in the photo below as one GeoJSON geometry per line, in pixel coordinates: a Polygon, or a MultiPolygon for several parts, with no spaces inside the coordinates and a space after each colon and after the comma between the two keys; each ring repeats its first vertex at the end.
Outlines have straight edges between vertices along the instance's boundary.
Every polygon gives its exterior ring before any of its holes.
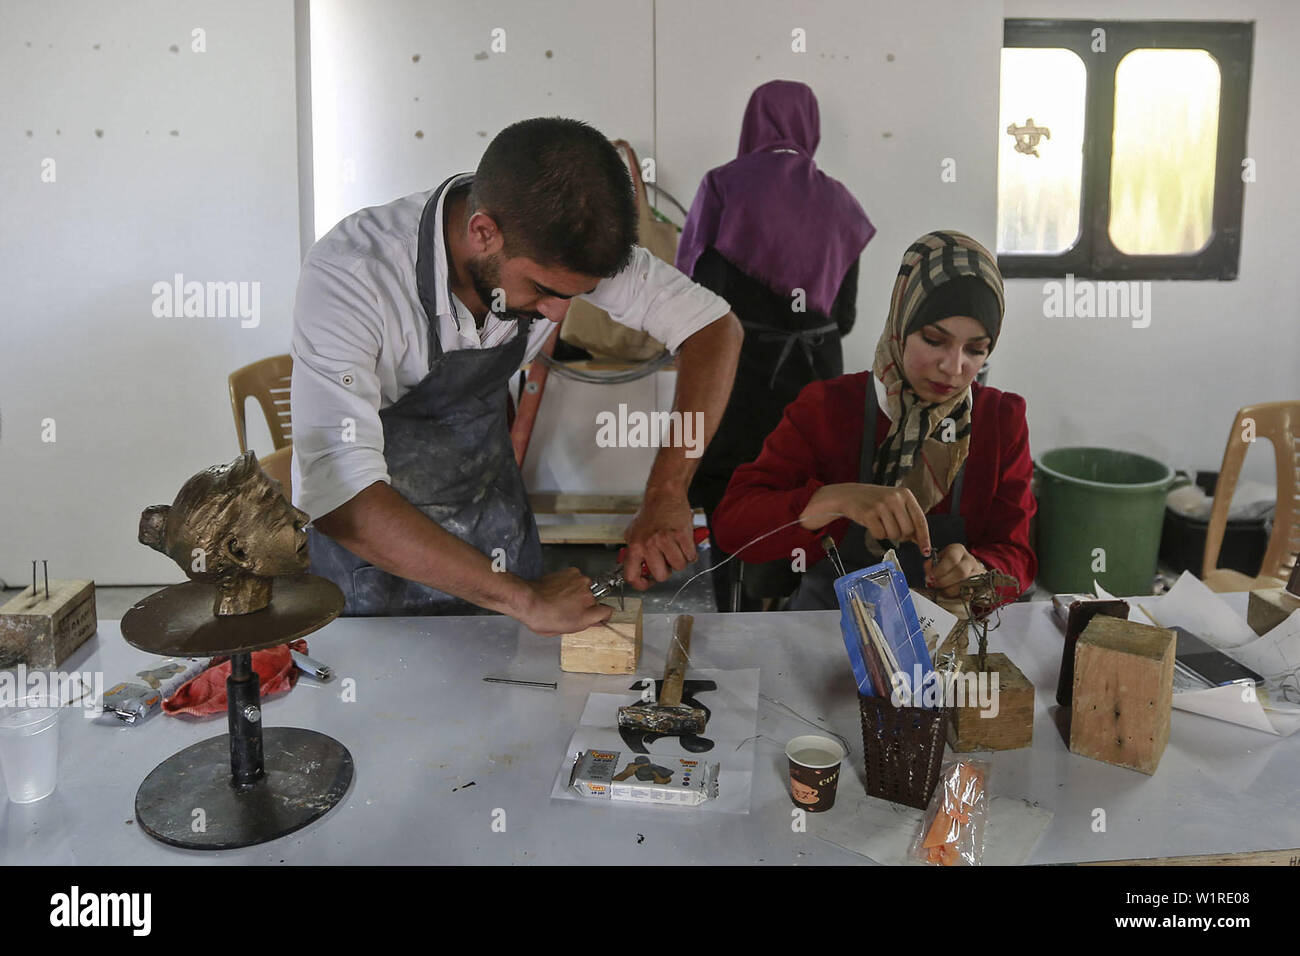
{"type": "MultiPolygon", "coordinates": [[[[455,177],[452,177],[455,178],[455,177]]],[[[380,411],[384,458],[393,489],[445,531],[488,557],[504,551],[504,568],[526,580],[542,572],[542,545],[506,424],[506,386],[519,371],[530,320],[494,349],[445,352],[434,306],[434,215],[451,179],[420,216],[416,285],[429,319],[429,373],[380,411]]],[[[343,592],[344,615],[484,614],[468,601],[361,561],[328,535],[308,529],[311,570],[343,592]]]]}

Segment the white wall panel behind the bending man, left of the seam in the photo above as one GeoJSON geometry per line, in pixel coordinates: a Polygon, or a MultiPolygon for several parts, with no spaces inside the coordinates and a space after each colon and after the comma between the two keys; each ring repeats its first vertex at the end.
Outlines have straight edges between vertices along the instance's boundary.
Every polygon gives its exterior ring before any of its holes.
{"type": "MultiPolygon", "coordinates": [[[[378,9],[312,3],[318,235],[354,209],[472,170],[500,129],[530,116],[585,120],[650,155],[650,0],[390,0],[378,9]],[[495,29],[503,52],[493,49],[495,29]]],[[[620,402],[671,407],[672,376],[621,386],[550,376],[524,462],[528,486],[642,490],[654,450],[595,446],[597,412],[620,402]]]]}

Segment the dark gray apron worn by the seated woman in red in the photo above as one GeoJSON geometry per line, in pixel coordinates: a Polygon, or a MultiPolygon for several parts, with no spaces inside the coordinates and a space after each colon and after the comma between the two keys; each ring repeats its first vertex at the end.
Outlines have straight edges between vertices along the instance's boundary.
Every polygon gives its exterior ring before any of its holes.
{"type": "MultiPolygon", "coordinates": [[[[858,481],[863,484],[875,483],[875,454],[876,454],[876,382],[875,376],[867,376],[867,403],[866,415],[862,419],[862,458],[858,463],[858,481]]],[[[946,515],[926,515],[926,525],[930,528],[930,546],[939,551],[948,545],[966,544],[966,519],[961,516],[962,507],[962,481],[966,477],[966,462],[957,472],[953,483],[952,510],[946,515]]],[[[840,559],[844,562],[846,572],[857,571],[879,562],[867,551],[867,532],[861,524],[849,523],[849,531],[837,545],[840,559]]],[[[915,541],[905,541],[894,549],[898,555],[900,568],[907,578],[907,587],[923,588],[926,585],[924,558],[915,541]]],[[[837,578],[835,564],[829,558],[823,558],[819,563],[809,568],[800,579],[798,591],[790,596],[786,610],[792,611],[818,611],[835,610],[840,606],[835,594],[835,579],[837,578]]]]}

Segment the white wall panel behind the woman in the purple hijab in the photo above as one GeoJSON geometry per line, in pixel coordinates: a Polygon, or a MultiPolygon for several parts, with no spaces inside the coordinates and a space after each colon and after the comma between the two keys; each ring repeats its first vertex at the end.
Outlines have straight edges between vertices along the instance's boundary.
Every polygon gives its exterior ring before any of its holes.
{"type": "Polygon", "coordinates": [[[881,0],[753,0],[744,9],[659,0],[659,177],[689,206],[701,177],[736,157],[755,86],[811,86],[822,112],[816,163],[878,230],[845,341],[845,369],[858,371],[871,364],[913,239],[949,228],[993,245],[1001,3],[942,4],[926,16],[881,0]],[[790,51],[796,27],[805,53],[790,51]],[[946,157],[957,161],[956,182],[940,181],[946,157]]]}

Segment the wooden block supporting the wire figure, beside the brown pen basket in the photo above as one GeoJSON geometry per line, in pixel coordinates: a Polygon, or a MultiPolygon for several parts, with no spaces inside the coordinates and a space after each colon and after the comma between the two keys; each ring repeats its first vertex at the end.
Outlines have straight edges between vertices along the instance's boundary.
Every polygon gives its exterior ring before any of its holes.
{"type": "Polygon", "coordinates": [[[979,674],[979,654],[958,661],[958,695],[949,711],[948,743],[958,753],[1015,750],[1034,743],[1034,684],[1006,654],[988,654],[979,674]],[[984,704],[985,706],[982,706],[984,704]],[[983,714],[997,713],[993,717],[983,714]]]}

